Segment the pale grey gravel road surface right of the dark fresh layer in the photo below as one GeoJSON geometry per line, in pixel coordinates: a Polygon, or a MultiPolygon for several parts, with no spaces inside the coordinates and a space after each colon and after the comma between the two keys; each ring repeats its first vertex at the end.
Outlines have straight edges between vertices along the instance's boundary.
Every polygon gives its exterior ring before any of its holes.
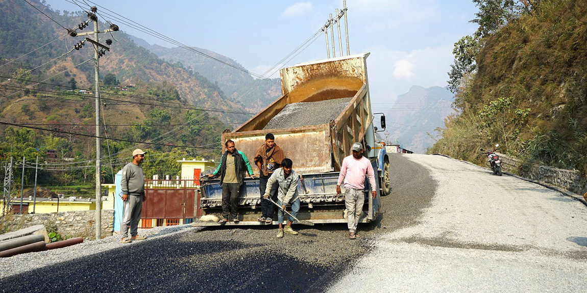
{"type": "Polygon", "coordinates": [[[437,181],[431,206],[419,223],[380,235],[329,291],[586,290],[583,203],[444,156],[403,156],[437,181]]]}

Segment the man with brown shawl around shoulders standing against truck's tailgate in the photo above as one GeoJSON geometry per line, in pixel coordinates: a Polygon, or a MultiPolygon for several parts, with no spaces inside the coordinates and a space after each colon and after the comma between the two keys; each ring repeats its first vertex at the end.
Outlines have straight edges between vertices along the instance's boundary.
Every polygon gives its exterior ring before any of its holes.
{"type": "MultiPolygon", "coordinates": [[[[279,168],[279,163],[284,159],[284,150],[275,144],[275,136],[271,133],[266,134],[265,144],[257,149],[254,159],[259,168],[259,193],[261,194],[261,217],[257,219],[259,222],[265,222],[267,224],[273,222],[272,218],[275,213],[275,206],[269,200],[266,200],[263,195],[267,187],[267,180],[279,168]]],[[[277,186],[269,190],[269,195],[274,202],[277,200],[277,186]]]]}

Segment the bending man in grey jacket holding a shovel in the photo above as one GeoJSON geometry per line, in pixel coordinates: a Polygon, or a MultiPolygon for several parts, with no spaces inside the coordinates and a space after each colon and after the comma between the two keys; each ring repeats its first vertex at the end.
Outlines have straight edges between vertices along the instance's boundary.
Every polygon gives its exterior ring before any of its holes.
{"type": "MultiPolygon", "coordinates": [[[[271,177],[269,177],[269,180],[267,180],[267,187],[265,188],[263,196],[267,199],[270,195],[271,188],[275,185],[278,186],[277,203],[281,206],[281,209],[277,211],[277,221],[279,222],[277,238],[283,238],[284,232],[291,235],[298,235],[298,232],[292,229],[292,223],[294,222],[293,217],[288,216],[288,223],[285,225],[285,228],[282,226],[282,223],[284,223],[284,210],[286,206],[292,206],[291,214],[294,217],[297,217],[299,212],[299,176],[294,170],[292,170],[292,165],[293,163],[291,159],[285,158],[281,161],[281,168],[275,170],[271,177]]],[[[271,203],[271,205],[273,205],[273,203],[271,203]]]]}

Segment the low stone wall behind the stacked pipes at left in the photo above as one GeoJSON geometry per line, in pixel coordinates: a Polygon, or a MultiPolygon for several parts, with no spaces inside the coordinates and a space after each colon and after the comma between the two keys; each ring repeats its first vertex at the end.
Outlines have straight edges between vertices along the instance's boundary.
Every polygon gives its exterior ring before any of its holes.
{"type": "MultiPolygon", "coordinates": [[[[46,228],[55,223],[61,236],[94,238],[96,219],[95,210],[75,210],[59,213],[12,214],[9,216],[9,230],[43,224],[46,228]]],[[[102,237],[112,236],[114,210],[102,210],[102,237]]]]}

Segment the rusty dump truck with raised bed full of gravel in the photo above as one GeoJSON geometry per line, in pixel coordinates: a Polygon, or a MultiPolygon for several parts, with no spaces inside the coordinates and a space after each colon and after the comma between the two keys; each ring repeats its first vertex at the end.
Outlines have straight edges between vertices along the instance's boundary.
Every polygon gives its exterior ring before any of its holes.
{"type": "MultiPolygon", "coordinates": [[[[369,53],[281,69],[282,96],[235,130],[225,130],[221,135],[222,145],[227,139],[234,141],[237,149],[249,158],[257,175],[254,155],[265,144],[266,134],[275,136],[275,143],[294,162],[293,169],[301,177],[298,186],[301,221],[346,223],[344,188],[341,186],[343,193],[337,194],[336,183],[343,158],[352,154],[353,142],[363,144],[363,155],[372,162],[377,183],[377,196],[373,199],[369,180],[365,178],[365,205],[360,223],[376,219],[381,207],[380,196],[390,193],[389,158],[375,135],[385,130],[385,116],[371,110],[367,56],[369,53]],[[374,124],[379,124],[379,129],[374,124]]],[[[245,178],[239,196],[239,222],[226,225],[264,225],[257,222],[261,217],[261,196],[259,179],[245,178]]],[[[194,210],[220,217],[219,179],[205,180],[198,198],[194,210]]],[[[217,223],[194,219],[193,225],[217,223]]]]}

